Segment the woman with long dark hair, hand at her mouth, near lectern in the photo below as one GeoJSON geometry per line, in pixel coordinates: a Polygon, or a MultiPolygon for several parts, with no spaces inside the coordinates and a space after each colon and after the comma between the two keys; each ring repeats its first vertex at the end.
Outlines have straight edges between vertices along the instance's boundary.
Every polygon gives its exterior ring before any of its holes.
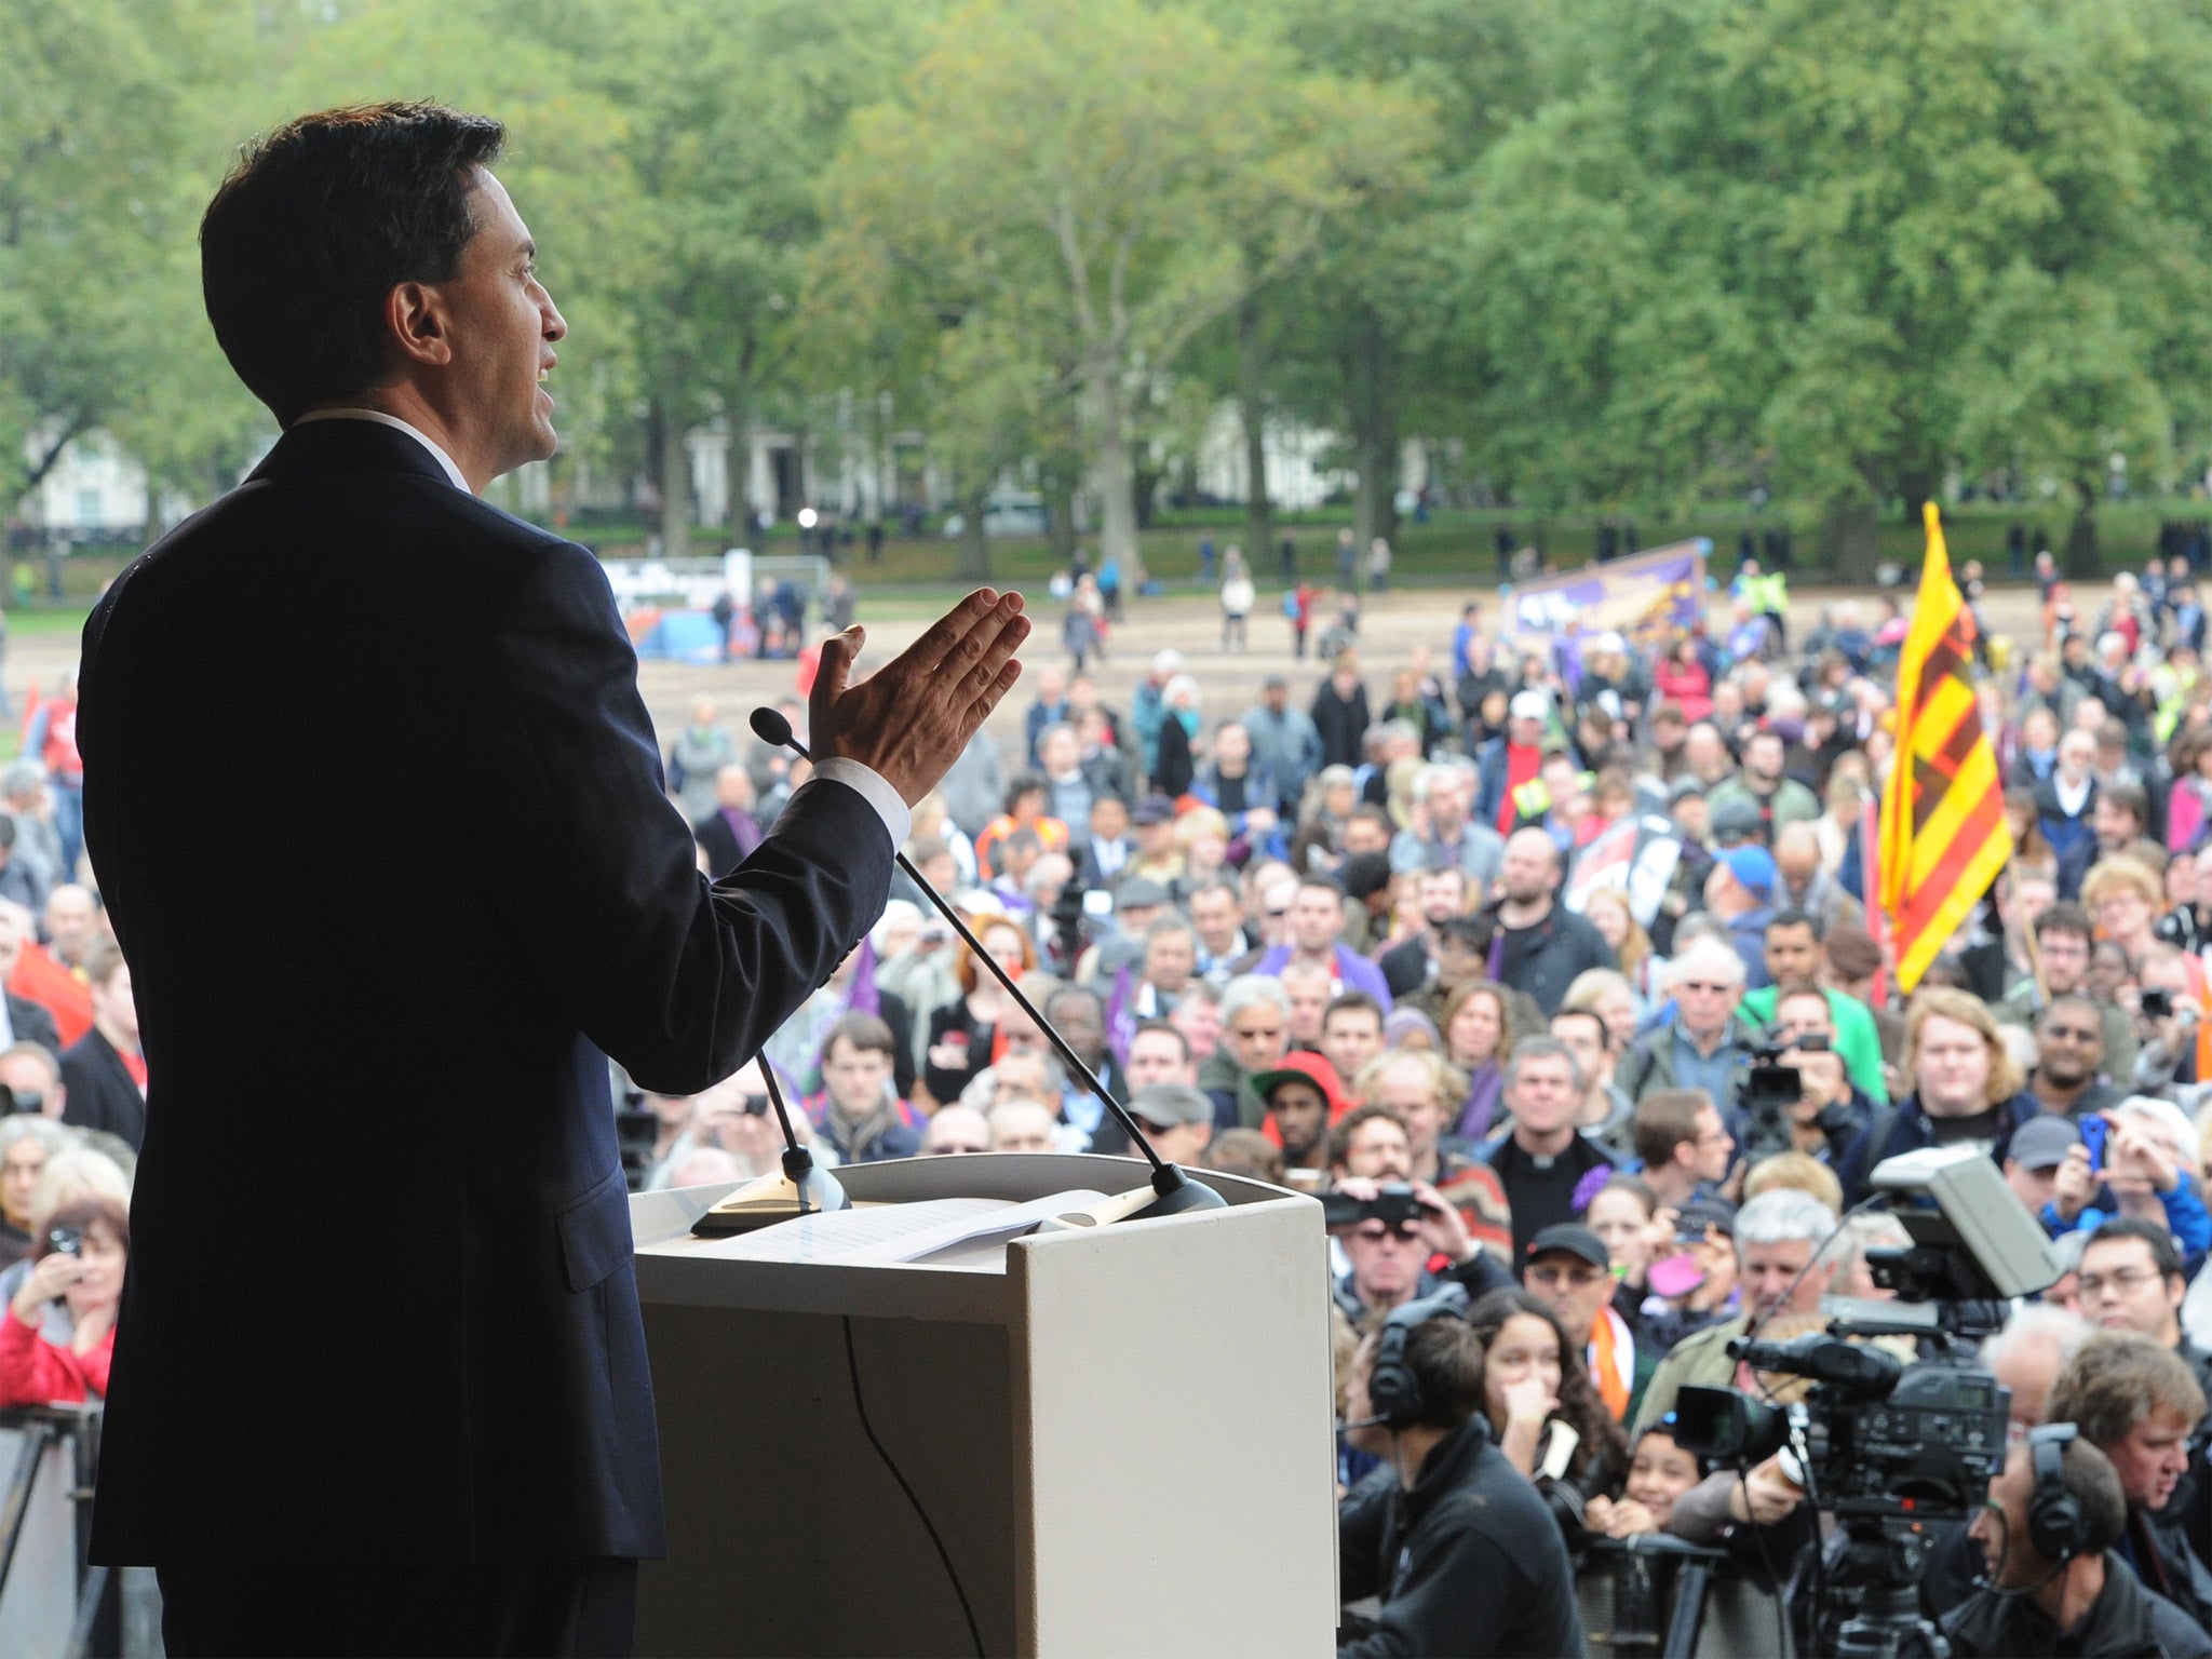
{"type": "Polygon", "coordinates": [[[1615,1495],[1628,1473],[1628,1440],[1573,1352],[1557,1314],[1526,1290],[1493,1290],[1467,1312],[1482,1338],[1482,1405],[1506,1462],[1551,1504],[1568,1546],[1590,1498],[1615,1495]],[[1575,1431],[1566,1471],[1544,1473],[1555,1425],[1575,1431]]]}

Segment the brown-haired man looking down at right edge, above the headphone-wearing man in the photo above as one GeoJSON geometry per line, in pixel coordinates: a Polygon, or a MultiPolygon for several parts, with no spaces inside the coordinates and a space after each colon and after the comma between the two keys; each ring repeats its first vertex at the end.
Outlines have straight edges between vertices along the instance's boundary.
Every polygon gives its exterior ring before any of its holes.
{"type": "Polygon", "coordinates": [[[2104,1329],[2075,1349],[2044,1411],[2073,1422],[2119,1471],[2128,1522],[2117,1553],[2148,1588],[2212,1624],[2212,1571],[2190,1548],[2177,1502],[2190,1433],[2205,1413],[2190,1367],[2157,1338],[2104,1329]]]}

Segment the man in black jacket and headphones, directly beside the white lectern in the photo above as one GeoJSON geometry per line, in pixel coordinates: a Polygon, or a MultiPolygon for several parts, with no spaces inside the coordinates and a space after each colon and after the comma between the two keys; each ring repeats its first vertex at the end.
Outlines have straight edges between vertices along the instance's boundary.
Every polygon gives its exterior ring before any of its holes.
{"type": "Polygon", "coordinates": [[[1442,1307],[1367,1336],[1345,1389],[1345,1440],[1385,1460],[1336,1511],[1338,1588],[1380,1617],[1338,1659],[1582,1655],[1573,1568],[1535,1489],[1491,1442],[1482,1343],[1442,1307]],[[1396,1363],[1378,1349],[1400,1340],[1396,1363]]]}

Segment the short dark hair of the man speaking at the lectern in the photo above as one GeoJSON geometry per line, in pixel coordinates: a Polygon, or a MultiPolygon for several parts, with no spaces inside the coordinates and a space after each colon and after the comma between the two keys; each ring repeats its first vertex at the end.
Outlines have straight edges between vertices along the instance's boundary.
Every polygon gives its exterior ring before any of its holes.
{"type": "Polygon", "coordinates": [[[279,425],[385,378],[385,299],[460,272],[471,168],[504,142],[487,115],[356,104],[246,146],[199,221],[199,283],[223,356],[279,425]]]}

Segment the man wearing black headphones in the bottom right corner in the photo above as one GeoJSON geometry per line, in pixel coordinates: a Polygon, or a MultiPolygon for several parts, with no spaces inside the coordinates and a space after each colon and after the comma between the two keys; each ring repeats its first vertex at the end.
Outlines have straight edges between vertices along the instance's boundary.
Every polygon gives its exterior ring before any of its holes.
{"type": "Polygon", "coordinates": [[[2212,1637],[2112,1553],[2126,1524],[2112,1462],[2070,1422],[2035,1429],[1966,1528],[1989,1559],[1989,1588],[1942,1621],[1951,1652],[2212,1659],[2212,1637]]]}

